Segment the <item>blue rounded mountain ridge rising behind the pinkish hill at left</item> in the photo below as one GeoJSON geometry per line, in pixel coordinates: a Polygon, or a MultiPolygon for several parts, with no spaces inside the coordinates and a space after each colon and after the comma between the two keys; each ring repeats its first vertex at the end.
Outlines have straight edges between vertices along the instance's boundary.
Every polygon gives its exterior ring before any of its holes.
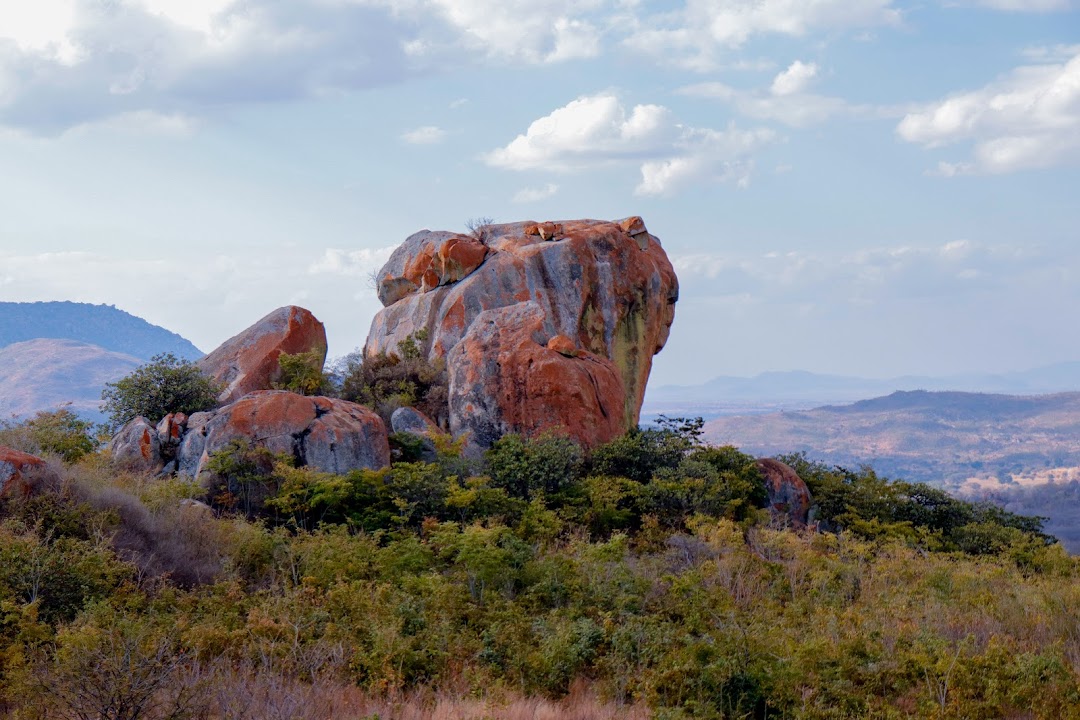
{"type": "Polygon", "coordinates": [[[192,361],[203,356],[179,335],[112,305],[0,302],[0,348],[38,338],[75,340],[144,361],[164,352],[192,361]]]}

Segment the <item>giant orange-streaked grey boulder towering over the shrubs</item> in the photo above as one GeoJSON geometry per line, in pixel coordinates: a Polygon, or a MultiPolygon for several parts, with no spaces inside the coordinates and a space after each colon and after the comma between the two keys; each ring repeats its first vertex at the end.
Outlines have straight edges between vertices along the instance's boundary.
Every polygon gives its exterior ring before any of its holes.
{"type": "Polygon", "coordinates": [[[636,426],[678,299],[671,262],[642,219],[477,234],[483,243],[423,231],[397,248],[379,272],[386,307],[365,353],[426,331],[429,358],[447,362],[451,430],[474,433],[481,447],[554,425],[595,445],[636,426]],[[443,255],[459,259],[440,264],[443,255]]]}

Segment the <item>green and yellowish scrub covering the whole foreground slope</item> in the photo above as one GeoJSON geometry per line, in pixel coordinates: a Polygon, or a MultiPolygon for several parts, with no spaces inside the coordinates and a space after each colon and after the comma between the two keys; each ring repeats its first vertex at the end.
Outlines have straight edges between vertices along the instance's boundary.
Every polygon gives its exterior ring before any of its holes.
{"type": "Polygon", "coordinates": [[[791,457],[789,528],[697,427],[345,476],[239,444],[208,489],[24,445],[53,477],[0,506],[0,714],[1080,717],[1080,567],[1038,519],[791,457]]]}

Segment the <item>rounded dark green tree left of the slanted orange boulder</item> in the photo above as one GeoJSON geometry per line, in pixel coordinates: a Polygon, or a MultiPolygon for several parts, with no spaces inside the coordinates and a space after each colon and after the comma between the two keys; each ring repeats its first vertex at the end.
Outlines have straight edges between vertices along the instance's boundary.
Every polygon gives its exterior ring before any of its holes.
{"type": "Polygon", "coordinates": [[[154,355],[146,365],[105,384],[102,408],[112,430],[143,416],[157,422],[170,412],[190,415],[217,405],[220,385],[194,363],[172,353],[154,355]]]}

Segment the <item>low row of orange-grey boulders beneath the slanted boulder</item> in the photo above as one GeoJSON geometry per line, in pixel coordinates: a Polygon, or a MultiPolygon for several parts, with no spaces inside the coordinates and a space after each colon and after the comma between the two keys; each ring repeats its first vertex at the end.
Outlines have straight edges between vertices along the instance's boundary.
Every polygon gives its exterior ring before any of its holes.
{"type": "Polygon", "coordinates": [[[127,467],[199,477],[210,456],[234,439],[329,473],[390,464],[387,429],[376,413],[355,403],[283,390],[249,393],[189,418],[166,416],[157,427],[136,418],[109,447],[113,460],[127,467]]]}

